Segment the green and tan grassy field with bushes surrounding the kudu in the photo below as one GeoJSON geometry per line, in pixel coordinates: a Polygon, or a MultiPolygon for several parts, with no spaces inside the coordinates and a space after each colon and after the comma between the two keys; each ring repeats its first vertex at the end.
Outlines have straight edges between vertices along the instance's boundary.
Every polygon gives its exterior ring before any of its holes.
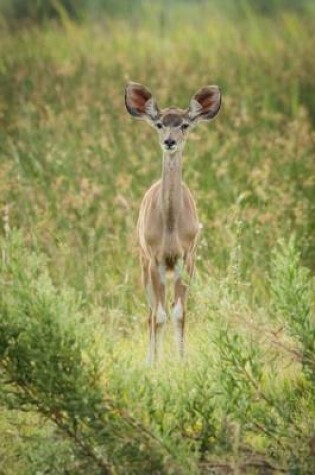
{"type": "Polygon", "coordinates": [[[315,473],[315,9],[223,3],[0,22],[0,474],[315,473]],[[184,157],[187,355],[168,323],[153,369],[135,226],[161,151],[128,80],[223,95],[184,157]]]}

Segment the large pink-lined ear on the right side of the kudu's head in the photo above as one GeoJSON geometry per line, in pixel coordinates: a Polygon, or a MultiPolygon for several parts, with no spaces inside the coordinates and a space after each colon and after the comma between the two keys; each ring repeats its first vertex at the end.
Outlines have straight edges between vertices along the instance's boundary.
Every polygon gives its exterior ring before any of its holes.
{"type": "Polygon", "coordinates": [[[211,120],[221,107],[221,91],[218,86],[205,86],[191,98],[188,116],[192,122],[211,120]]]}

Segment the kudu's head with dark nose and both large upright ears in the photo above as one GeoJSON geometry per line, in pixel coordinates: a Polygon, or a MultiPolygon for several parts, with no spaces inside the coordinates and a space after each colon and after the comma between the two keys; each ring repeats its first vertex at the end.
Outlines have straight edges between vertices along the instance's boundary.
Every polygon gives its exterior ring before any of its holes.
{"type": "Polygon", "coordinates": [[[162,150],[174,153],[183,150],[189,130],[200,121],[212,120],[220,110],[221,92],[218,86],[205,86],[191,98],[187,109],[159,109],[151,92],[142,84],[126,86],[125,102],[128,112],[146,120],[159,135],[162,150]]]}

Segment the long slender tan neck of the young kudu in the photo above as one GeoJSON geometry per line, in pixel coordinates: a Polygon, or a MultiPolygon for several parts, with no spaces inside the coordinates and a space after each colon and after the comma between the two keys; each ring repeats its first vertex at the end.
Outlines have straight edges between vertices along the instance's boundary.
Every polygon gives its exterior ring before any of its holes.
{"type": "Polygon", "coordinates": [[[182,206],[182,152],[164,152],[161,205],[168,231],[174,231],[182,206]]]}

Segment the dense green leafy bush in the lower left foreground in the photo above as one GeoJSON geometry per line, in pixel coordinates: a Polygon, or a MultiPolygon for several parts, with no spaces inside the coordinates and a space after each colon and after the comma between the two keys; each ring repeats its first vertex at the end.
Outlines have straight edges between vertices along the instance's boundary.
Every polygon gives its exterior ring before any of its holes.
{"type": "Polygon", "coordinates": [[[139,467],[163,473],[167,449],[104,394],[93,322],[86,321],[80,302],[53,286],[45,262],[27,255],[18,235],[3,249],[2,403],[53,422],[89,473],[112,473],[114,466],[115,473],[139,473],[139,467]]]}

